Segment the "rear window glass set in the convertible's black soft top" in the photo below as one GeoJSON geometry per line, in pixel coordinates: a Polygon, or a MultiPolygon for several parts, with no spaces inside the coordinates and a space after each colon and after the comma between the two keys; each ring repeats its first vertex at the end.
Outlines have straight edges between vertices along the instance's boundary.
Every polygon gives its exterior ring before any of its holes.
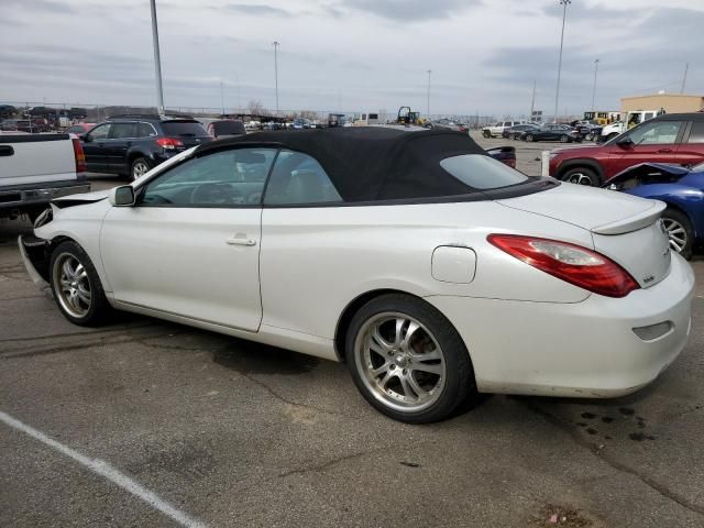
{"type": "Polygon", "coordinates": [[[528,182],[528,177],[518,170],[481,154],[446,157],[440,166],[474,189],[496,189],[528,182]]]}

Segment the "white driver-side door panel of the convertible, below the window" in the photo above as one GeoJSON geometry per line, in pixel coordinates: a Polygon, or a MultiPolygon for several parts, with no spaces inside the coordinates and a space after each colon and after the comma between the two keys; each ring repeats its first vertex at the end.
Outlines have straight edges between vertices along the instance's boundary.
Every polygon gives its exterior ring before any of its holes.
{"type": "Polygon", "coordinates": [[[114,300],[256,331],[261,216],[257,208],[111,208],[100,256],[114,300]]]}

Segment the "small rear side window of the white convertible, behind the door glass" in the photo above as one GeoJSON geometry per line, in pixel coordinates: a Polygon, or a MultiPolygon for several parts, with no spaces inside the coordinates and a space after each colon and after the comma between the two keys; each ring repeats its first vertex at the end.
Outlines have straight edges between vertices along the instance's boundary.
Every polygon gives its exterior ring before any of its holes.
{"type": "Polygon", "coordinates": [[[266,187],[264,205],[295,206],[342,201],[320,164],[307,154],[280,151],[266,187]]]}

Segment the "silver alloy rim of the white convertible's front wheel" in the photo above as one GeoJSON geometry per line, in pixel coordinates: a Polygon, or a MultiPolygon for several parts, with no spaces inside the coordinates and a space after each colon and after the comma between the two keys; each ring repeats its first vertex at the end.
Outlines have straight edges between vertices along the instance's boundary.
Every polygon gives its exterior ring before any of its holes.
{"type": "Polygon", "coordinates": [[[78,258],[70,253],[59,255],[54,261],[52,279],[62,307],[73,317],[84,317],[90,309],[90,282],[78,258]]]}

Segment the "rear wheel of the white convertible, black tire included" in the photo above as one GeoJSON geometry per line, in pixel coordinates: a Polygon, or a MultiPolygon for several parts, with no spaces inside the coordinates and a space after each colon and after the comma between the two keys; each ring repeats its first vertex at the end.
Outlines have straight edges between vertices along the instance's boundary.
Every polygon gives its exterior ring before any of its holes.
{"type": "Polygon", "coordinates": [[[433,306],[410,295],[383,295],[360,308],[346,332],[345,358],[364,398],[398,421],[442,420],[476,398],[462,338],[433,306]]]}

